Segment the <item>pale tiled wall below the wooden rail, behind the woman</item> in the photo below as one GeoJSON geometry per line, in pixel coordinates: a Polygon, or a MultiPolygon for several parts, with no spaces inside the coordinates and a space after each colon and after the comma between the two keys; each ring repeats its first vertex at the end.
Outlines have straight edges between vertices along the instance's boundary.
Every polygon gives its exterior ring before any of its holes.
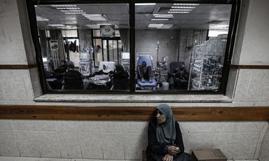
{"type": "MultiPolygon", "coordinates": [[[[187,153],[220,148],[229,159],[257,159],[267,124],[179,122],[187,153]]],[[[142,160],[147,125],[146,121],[0,120],[0,155],[142,160]]]]}

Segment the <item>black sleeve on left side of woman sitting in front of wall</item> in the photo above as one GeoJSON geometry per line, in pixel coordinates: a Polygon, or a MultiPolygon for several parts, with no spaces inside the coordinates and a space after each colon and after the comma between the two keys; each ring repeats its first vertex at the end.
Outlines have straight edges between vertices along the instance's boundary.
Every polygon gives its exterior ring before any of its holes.
{"type": "Polygon", "coordinates": [[[152,122],[149,122],[148,128],[148,148],[152,153],[167,154],[169,144],[159,144],[156,137],[156,128],[152,122]]]}

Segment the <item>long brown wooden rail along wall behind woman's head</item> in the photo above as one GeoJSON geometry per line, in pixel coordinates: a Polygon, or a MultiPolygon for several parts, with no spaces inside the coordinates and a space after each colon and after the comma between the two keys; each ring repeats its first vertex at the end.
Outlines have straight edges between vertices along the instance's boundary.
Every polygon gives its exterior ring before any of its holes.
{"type": "MultiPolygon", "coordinates": [[[[0,118],[150,120],[156,106],[0,105],[0,118]]],[[[176,120],[269,120],[266,107],[172,107],[176,120]]]]}

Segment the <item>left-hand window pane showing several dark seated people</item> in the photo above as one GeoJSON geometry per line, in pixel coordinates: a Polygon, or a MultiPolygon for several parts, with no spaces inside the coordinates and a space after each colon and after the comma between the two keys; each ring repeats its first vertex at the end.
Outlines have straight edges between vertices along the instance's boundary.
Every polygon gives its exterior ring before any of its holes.
{"type": "Polygon", "coordinates": [[[128,3],[35,10],[47,90],[130,91],[128,3]]]}

